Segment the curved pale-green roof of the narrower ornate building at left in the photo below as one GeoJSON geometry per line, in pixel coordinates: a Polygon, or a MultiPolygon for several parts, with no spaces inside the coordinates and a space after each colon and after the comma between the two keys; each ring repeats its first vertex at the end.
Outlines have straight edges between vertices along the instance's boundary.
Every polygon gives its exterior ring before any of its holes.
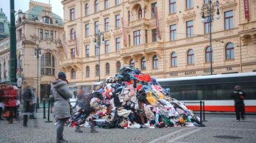
{"type": "Polygon", "coordinates": [[[30,1],[29,10],[27,10],[25,13],[26,18],[29,21],[35,21],[36,19],[40,21],[40,18],[43,16],[48,16],[51,18],[53,23],[56,23],[59,26],[63,26],[63,19],[51,11],[51,4],[45,4],[38,1],[30,1]]]}

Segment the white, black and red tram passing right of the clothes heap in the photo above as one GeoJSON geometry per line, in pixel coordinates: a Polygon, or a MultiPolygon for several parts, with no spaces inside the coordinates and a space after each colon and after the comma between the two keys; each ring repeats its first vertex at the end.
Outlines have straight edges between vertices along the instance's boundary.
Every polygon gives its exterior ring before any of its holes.
{"type": "Polygon", "coordinates": [[[199,103],[193,102],[200,100],[205,101],[205,111],[235,111],[230,95],[238,84],[246,92],[246,112],[256,112],[256,73],[163,78],[157,81],[162,87],[171,89],[172,98],[184,102],[193,111],[199,111],[199,103]]]}

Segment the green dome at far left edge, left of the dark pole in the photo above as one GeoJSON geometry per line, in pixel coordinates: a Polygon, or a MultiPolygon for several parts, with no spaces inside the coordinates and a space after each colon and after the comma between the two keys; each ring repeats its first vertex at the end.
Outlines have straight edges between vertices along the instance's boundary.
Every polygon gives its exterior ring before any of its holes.
{"type": "Polygon", "coordinates": [[[9,32],[10,21],[8,21],[7,16],[4,14],[3,10],[0,9],[0,41],[10,35],[9,32]]]}

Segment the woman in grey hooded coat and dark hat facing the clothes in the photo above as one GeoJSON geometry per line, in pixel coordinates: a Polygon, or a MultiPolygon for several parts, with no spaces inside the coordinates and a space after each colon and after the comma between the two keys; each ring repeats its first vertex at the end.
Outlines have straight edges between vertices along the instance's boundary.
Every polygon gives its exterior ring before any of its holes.
{"type": "Polygon", "coordinates": [[[71,117],[71,105],[69,98],[72,98],[71,90],[65,73],[60,72],[57,80],[51,83],[51,93],[54,96],[54,113],[57,120],[57,143],[68,142],[63,138],[65,122],[71,117]]]}

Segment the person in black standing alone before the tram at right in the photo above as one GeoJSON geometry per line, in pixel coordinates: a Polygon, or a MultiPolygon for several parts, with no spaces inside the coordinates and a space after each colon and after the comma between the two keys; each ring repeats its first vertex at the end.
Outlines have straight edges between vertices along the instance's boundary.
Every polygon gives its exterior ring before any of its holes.
{"type": "Polygon", "coordinates": [[[231,98],[234,99],[235,102],[235,115],[236,115],[236,121],[240,121],[240,114],[242,117],[242,120],[244,120],[244,103],[243,100],[246,97],[246,93],[243,92],[241,87],[239,85],[235,85],[234,91],[231,94],[231,98]]]}

